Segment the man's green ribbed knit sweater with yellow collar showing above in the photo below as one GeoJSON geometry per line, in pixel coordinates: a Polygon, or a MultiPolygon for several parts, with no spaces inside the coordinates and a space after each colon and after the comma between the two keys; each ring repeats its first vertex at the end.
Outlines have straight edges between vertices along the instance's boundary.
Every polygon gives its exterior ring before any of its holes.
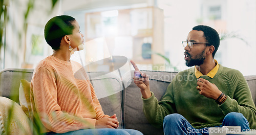
{"type": "Polygon", "coordinates": [[[214,78],[201,76],[214,83],[226,96],[226,101],[218,105],[214,99],[206,98],[197,90],[195,67],[179,72],[167,87],[161,101],[152,93],[143,99],[143,109],[147,120],[155,127],[162,127],[163,119],[178,113],[195,128],[214,127],[222,124],[228,113],[244,115],[251,129],[256,129],[256,109],[249,86],[244,76],[234,69],[220,65],[214,78]]]}

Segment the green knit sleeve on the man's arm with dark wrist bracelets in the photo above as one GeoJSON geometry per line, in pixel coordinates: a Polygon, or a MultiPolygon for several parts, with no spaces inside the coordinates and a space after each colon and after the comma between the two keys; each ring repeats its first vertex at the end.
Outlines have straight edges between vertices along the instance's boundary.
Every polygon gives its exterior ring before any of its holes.
{"type": "Polygon", "coordinates": [[[222,109],[224,115],[231,112],[237,112],[243,114],[243,116],[249,122],[249,127],[251,129],[256,128],[256,109],[254,102],[251,97],[251,92],[247,81],[244,76],[238,72],[237,82],[233,85],[236,86],[234,90],[233,99],[227,96],[226,101],[219,107],[222,109]]]}

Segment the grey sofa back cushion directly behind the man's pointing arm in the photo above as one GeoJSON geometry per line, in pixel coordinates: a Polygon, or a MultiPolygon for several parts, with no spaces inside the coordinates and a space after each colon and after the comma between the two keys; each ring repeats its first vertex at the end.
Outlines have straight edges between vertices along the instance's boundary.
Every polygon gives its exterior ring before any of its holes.
{"type": "MultiPolygon", "coordinates": [[[[151,91],[158,100],[162,98],[167,86],[177,74],[170,72],[142,72],[150,77],[151,91]]],[[[134,74],[134,71],[131,74],[134,74]]],[[[157,129],[146,120],[142,108],[141,92],[136,84],[133,83],[133,79],[131,85],[123,92],[123,104],[124,128],[137,129],[143,134],[163,134],[162,128],[157,129]]]]}

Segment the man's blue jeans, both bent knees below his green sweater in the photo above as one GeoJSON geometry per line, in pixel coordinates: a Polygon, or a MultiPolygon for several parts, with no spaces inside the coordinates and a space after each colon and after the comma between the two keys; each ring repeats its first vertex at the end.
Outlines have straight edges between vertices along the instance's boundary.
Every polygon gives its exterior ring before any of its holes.
{"type": "MultiPolygon", "coordinates": [[[[222,126],[241,126],[241,130],[250,129],[249,123],[240,113],[229,113],[225,116],[222,126]]],[[[171,114],[164,117],[163,131],[169,134],[208,134],[208,128],[196,129],[180,114],[171,114]],[[201,131],[200,133],[198,133],[201,131]]]]}

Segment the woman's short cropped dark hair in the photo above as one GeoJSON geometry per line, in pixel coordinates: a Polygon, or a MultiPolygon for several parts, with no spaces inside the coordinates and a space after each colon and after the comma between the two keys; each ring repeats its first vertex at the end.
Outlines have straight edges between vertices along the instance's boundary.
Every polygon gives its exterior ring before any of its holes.
{"type": "Polygon", "coordinates": [[[62,37],[72,34],[75,18],[68,15],[59,15],[51,18],[45,26],[46,42],[53,50],[59,50],[62,37]]]}

